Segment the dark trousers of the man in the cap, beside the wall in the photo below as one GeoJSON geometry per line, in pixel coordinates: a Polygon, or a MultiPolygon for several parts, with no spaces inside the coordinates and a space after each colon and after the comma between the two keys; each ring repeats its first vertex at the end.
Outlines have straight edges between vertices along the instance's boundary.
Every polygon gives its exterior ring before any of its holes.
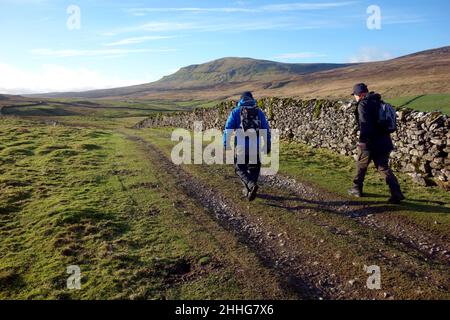
{"type": "Polygon", "coordinates": [[[358,161],[356,164],[357,174],[353,180],[355,188],[362,191],[364,186],[364,178],[366,177],[367,168],[373,161],[378,172],[383,176],[386,184],[389,186],[393,196],[400,196],[400,184],[389,166],[389,153],[374,153],[369,150],[359,150],[358,161]]]}

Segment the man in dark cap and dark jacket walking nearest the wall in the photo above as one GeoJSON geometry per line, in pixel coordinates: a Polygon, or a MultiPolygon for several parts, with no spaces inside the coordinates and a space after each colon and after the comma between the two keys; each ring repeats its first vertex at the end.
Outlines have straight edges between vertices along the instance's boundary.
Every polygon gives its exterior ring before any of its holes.
{"type": "Polygon", "coordinates": [[[389,156],[394,150],[390,134],[379,132],[377,129],[378,111],[381,107],[381,96],[369,92],[364,83],[354,86],[352,95],[355,97],[358,108],[355,112],[359,128],[357,174],[353,180],[353,188],[348,192],[352,196],[362,197],[364,178],[370,162],[384,177],[391,191],[390,203],[400,203],[405,199],[397,178],[389,166],[389,156]]]}

